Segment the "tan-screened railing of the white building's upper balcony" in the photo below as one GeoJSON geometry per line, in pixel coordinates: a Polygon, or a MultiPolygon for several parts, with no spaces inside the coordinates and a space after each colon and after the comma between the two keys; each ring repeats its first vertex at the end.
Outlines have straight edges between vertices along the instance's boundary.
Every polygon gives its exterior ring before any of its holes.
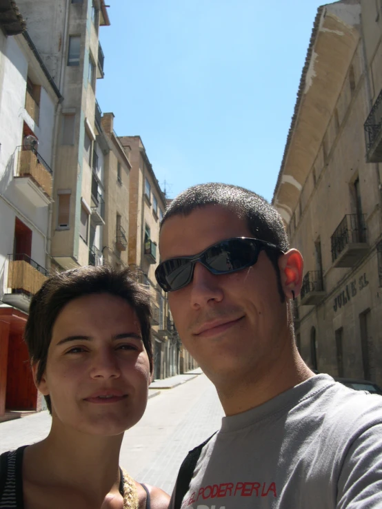
{"type": "Polygon", "coordinates": [[[52,169],[37,150],[19,148],[16,177],[31,177],[48,196],[52,196],[52,169]]]}

